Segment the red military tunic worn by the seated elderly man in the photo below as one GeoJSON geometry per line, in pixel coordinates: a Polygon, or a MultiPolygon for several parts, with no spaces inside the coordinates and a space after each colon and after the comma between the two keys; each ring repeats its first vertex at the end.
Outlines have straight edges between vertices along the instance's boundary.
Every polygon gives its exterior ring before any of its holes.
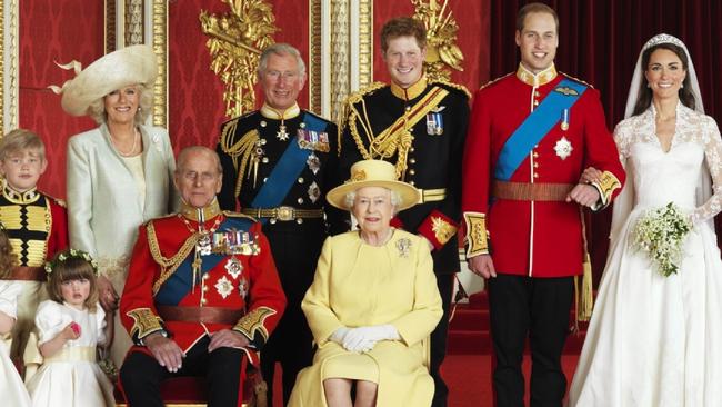
{"type": "MultiPolygon", "coordinates": [[[[221,329],[243,334],[251,343],[248,355],[258,363],[257,350],[278,324],[285,307],[275,264],[261,224],[253,218],[220,212],[218,204],[205,208],[205,230],[214,234],[248,232],[242,254],[199,256],[202,272],[194,277],[198,221],[194,209],[150,220],[140,227],[133,249],[126,288],[120,301],[120,317],[137,345],[150,334],[164,331],[183,351],[202,336],[221,329]],[[176,258],[174,258],[176,257],[176,258]],[[209,270],[210,268],[210,270],[209,270]],[[195,284],[192,284],[192,281],[195,284]],[[163,320],[159,308],[199,311],[199,308],[240,311],[234,322],[163,320]]],[[[215,246],[214,246],[215,247],[215,246]]],[[[202,309],[200,310],[202,311],[202,309]]],[[[144,348],[140,348],[144,350],[144,348]]],[[[130,351],[139,350],[138,347],[130,351]]]]}

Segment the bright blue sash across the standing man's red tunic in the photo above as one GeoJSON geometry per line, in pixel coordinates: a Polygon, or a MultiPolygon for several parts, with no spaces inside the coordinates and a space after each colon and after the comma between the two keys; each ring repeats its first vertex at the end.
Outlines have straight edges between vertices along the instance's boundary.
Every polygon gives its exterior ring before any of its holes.
{"type": "Polygon", "coordinates": [[[531,150],[559,122],[561,112],[570,109],[586,90],[586,86],[564,79],[509,137],[494,168],[494,178],[508,181],[531,150]]]}

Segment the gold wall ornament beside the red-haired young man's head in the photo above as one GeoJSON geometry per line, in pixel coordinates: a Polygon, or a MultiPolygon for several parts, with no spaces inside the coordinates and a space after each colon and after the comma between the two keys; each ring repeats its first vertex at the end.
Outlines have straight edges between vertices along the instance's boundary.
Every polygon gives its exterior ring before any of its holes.
{"type": "Polygon", "coordinates": [[[451,72],[447,67],[463,71],[461,62],[464,56],[457,46],[459,26],[451,10],[438,0],[411,0],[415,11],[413,18],[423,22],[427,28],[427,60],[424,68],[430,80],[449,81],[451,72]]]}

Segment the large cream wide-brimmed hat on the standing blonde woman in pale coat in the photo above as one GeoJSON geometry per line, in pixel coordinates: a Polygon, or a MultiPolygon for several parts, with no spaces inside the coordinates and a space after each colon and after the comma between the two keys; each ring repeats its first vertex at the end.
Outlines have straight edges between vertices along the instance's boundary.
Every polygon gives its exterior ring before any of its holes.
{"type": "Polygon", "coordinates": [[[88,115],[96,100],[122,87],[152,85],[158,76],[156,53],[150,46],[131,46],[108,53],[77,73],[58,91],[62,109],[71,116],[88,115]]]}

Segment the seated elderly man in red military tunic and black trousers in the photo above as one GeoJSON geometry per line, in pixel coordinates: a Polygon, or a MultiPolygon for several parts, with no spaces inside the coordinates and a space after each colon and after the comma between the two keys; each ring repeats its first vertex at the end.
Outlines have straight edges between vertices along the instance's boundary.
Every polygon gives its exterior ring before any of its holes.
{"type": "Polygon", "coordinates": [[[213,150],[184,149],[181,211],[140,227],[120,300],[136,344],[120,370],[131,406],[163,406],[160,384],[176,376],[204,376],[208,406],[241,406],[245,366],[285,307],[261,225],[219,209],[221,173],[213,150]]]}

